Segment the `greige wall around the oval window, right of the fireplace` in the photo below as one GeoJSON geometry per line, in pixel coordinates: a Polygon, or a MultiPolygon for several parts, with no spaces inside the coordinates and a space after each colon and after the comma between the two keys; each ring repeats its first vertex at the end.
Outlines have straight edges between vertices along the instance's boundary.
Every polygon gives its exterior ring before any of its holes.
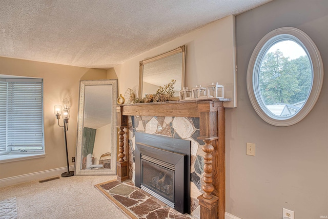
{"type": "Polygon", "coordinates": [[[313,110],[296,125],[261,120],[247,93],[251,54],[268,32],[296,27],[308,34],[328,69],[328,1],[275,0],[236,16],[238,107],[226,109],[226,211],[243,219],[328,215],[328,72],[313,110]],[[255,143],[255,156],[245,155],[255,143]]]}

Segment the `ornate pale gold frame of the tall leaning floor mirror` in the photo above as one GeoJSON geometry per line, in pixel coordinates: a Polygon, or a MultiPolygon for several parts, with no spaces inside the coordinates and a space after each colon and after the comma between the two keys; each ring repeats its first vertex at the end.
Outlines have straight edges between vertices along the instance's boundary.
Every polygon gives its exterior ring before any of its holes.
{"type": "MultiPolygon", "coordinates": [[[[90,87],[91,88],[91,87],[90,87]]],[[[76,144],[76,163],[75,163],[75,175],[116,175],[116,158],[117,158],[117,129],[116,129],[116,99],[117,99],[117,79],[104,79],[94,81],[80,81],[80,93],[79,93],[79,106],[78,106],[78,121],[77,121],[77,144],[76,144]],[[111,86],[111,112],[110,112],[110,136],[111,143],[106,145],[110,153],[110,168],[91,168],[87,170],[83,168],[83,139],[84,139],[84,123],[85,123],[85,96],[86,87],[95,86],[111,86]]],[[[94,107],[94,106],[91,106],[94,107]]],[[[108,109],[108,108],[107,108],[108,109]]],[[[107,130],[107,129],[106,129],[107,130]]],[[[96,134],[96,133],[95,133],[96,134]]],[[[106,153],[105,155],[107,155],[106,153]]],[[[104,154],[103,154],[104,155],[104,154]]],[[[103,157],[103,155],[100,156],[103,157]]],[[[108,155],[107,155],[108,157],[108,155]]],[[[101,160],[97,157],[99,161],[101,160]]],[[[100,163],[99,163],[100,164],[100,163]]]]}

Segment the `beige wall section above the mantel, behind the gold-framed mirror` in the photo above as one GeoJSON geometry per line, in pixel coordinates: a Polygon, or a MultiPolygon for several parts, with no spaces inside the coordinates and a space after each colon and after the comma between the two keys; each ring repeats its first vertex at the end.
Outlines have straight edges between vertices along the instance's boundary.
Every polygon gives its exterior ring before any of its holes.
{"type": "Polygon", "coordinates": [[[138,94],[140,61],[186,45],[186,86],[192,88],[196,85],[207,86],[212,82],[218,82],[224,85],[224,97],[232,98],[232,102],[226,106],[235,106],[233,24],[234,16],[222,18],[114,67],[118,76],[119,93],[124,94],[131,88],[136,95],[138,94]]]}

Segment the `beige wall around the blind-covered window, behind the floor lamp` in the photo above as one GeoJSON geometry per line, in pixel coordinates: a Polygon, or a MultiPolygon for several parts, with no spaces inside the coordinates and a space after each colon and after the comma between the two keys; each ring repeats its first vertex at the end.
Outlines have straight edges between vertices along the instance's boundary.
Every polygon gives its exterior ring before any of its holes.
{"type": "MultiPolygon", "coordinates": [[[[61,99],[71,103],[67,144],[69,161],[75,156],[80,79],[106,79],[107,71],[0,57],[0,74],[44,79],[46,157],[0,164],[0,179],[66,167],[64,130],[58,127],[53,106],[61,99]]],[[[62,122],[62,121],[61,121],[62,122]]],[[[73,165],[70,163],[70,165],[73,165]]]]}

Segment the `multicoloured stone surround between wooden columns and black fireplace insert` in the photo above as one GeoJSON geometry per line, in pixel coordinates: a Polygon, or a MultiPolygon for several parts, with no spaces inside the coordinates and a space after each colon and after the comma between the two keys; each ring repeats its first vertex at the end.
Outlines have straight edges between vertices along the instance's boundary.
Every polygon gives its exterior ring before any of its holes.
{"type": "Polygon", "coordinates": [[[193,216],[200,215],[197,197],[203,193],[201,180],[203,173],[203,141],[199,136],[199,118],[196,117],[160,117],[160,116],[129,116],[129,177],[134,182],[134,150],[135,132],[158,134],[180,138],[191,142],[190,157],[190,212],[193,216]]]}

